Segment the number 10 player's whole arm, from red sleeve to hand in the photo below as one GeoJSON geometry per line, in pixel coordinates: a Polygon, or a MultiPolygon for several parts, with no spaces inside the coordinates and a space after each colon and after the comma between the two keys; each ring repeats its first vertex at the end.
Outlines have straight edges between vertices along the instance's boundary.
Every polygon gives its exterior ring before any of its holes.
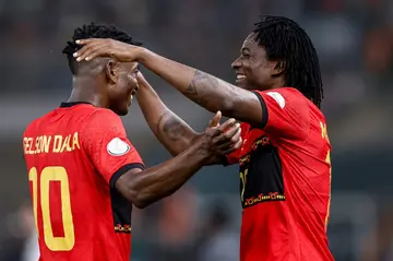
{"type": "Polygon", "coordinates": [[[229,119],[218,128],[207,128],[198,142],[178,156],[146,169],[127,139],[120,117],[110,110],[93,114],[80,139],[104,180],[136,207],[144,207],[174,193],[215,156],[239,149],[240,132],[235,119],[229,119]]]}

